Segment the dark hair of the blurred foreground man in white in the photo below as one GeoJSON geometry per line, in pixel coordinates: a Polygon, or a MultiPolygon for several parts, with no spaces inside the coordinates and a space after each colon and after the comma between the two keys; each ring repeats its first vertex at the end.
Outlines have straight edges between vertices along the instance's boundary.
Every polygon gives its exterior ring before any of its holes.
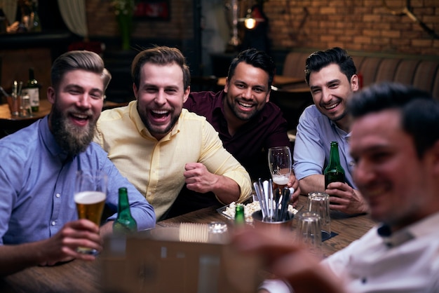
{"type": "Polygon", "coordinates": [[[419,158],[439,139],[439,101],[412,86],[376,83],[354,93],[348,109],[354,119],[386,109],[400,111],[401,127],[413,137],[419,158]]]}

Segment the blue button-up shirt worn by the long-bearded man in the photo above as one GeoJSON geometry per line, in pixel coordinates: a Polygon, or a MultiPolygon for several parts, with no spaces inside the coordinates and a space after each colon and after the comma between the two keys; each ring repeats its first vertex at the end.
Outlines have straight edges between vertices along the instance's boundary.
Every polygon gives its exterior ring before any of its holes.
{"type": "MultiPolygon", "coordinates": [[[[48,117],[0,139],[0,243],[19,244],[54,236],[78,219],[74,203],[77,170],[108,175],[106,205],[117,212],[119,187],[128,188],[130,210],[139,230],[154,227],[154,209],[123,177],[107,153],[91,143],[68,157],[48,128],[48,117]]],[[[109,219],[115,219],[113,214],[109,219]]]]}

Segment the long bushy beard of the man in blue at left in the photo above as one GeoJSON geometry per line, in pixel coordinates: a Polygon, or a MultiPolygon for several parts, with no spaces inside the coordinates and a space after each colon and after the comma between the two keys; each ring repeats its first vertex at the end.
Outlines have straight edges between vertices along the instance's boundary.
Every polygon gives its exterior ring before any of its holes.
{"type": "MultiPolygon", "coordinates": [[[[90,115],[91,116],[91,115],[90,115]]],[[[52,125],[55,141],[69,156],[76,156],[86,151],[95,134],[97,119],[90,119],[86,127],[79,127],[69,123],[67,114],[58,109],[54,104],[50,125],[52,125]]]]}

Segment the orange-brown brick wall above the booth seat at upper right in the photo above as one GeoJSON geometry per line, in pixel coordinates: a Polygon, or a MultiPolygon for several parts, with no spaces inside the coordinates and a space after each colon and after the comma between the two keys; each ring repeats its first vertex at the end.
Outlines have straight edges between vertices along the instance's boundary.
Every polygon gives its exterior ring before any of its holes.
{"type": "MultiPolygon", "coordinates": [[[[400,11],[406,0],[386,0],[400,11]]],[[[439,35],[439,1],[412,0],[412,11],[439,35]]],[[[273,46],[439,55],[433,38],[407,15],[392,15],[382,0],[269,0],[273,46]]]]}

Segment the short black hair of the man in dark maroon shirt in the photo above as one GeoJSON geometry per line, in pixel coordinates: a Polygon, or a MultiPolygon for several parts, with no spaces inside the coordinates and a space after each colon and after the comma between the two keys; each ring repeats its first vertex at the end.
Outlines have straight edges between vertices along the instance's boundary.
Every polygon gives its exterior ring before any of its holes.
{"type": "Polygon", "coordinates": [[[255,48],[243,50],[236,57],[234,57],[234,60],[231,60],[229,72],[227,74],[229,81],[231,80],[231,77],[234,76],[235,69],[241,62],[245,62],[252,65],[252,67],[257,67],[266,71],[266,73],[269,74],[269,87],[271,87],[271,83],[273,83],[274,72],[276,71],[276,64],[274,64],[273,60],[267,53],[262,50],[257,50],[255,48]]]}

